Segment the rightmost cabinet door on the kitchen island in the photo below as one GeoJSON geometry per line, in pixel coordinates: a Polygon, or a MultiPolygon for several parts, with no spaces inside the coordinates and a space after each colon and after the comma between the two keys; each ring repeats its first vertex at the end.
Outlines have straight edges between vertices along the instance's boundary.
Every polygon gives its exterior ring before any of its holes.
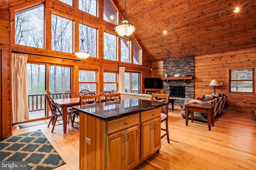
{"type": "Polygon", "coordinates": [[[156,118],[152,121],[153,123],[153,139],[152,141],[152,153],[156,152],[161,147],[161,120],[160,118],[156,118]]]}

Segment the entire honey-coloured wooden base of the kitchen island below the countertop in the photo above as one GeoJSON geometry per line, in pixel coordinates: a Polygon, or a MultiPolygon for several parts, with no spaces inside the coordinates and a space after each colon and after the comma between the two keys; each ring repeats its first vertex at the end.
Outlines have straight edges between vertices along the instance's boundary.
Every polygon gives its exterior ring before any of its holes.
{"type": "Polygon", "coordinates": [[[80,113],[82,169],[134,169],[160,149],[160,107],[105,121],[80,113]]]}

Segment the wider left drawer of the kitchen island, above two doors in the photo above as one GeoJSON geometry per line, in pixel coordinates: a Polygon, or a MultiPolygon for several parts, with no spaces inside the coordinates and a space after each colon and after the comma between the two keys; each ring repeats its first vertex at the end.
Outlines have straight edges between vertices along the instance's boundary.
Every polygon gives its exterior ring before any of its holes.
{"type": "Polygon", "coordinates": [[[107,135],[139,124],[139,113],[107,122],[107,135]]]}

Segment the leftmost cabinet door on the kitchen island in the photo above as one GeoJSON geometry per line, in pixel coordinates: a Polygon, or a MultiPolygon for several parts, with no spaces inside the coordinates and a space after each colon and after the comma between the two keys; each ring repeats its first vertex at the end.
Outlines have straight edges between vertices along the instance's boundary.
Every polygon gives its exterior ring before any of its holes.
{"type": "Polygon", "coordinates": [[[107,169],[124,169],[125,131],[107,137],[107,169]]]}

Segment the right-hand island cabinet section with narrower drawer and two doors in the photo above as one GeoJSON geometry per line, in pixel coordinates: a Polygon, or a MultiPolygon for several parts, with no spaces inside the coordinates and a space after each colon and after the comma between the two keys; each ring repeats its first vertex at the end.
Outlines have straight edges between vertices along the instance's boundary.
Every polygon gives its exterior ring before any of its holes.
{"type": "Polygon", "coordinates": [[[157,152],[161,147],[160,109],[142,112],[141,117],[141,161],[157,152]]]}

